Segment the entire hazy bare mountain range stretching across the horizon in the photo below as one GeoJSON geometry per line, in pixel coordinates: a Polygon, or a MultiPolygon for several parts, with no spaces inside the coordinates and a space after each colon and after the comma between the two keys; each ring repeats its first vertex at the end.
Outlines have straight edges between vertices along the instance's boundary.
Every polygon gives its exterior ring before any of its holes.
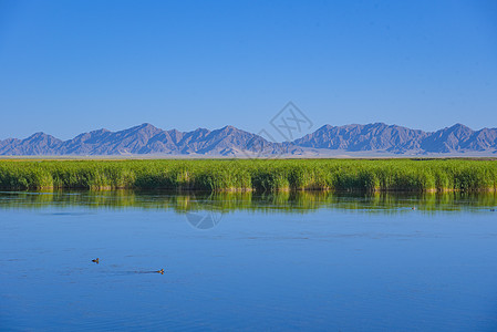
{"type": "Polygon", "coordinates": [[[397,125],[324,125],[293,142],[276,143],[225,126],[209,131],[163,131],[151,124],[111,132],[99,129],[62,141],[44,133],[0,141],[0,155],[44,156],[333,156],[333,155],[497,155],[497,128],[473,131],[456,124],[436,132],[397,125]]]}

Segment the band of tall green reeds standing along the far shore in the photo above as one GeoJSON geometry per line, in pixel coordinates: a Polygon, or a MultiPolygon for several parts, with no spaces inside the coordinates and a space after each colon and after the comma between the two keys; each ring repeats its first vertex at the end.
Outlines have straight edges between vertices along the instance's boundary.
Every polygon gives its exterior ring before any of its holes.
{"type": "Polygon", "coordinates": [[[495,191],[497,162],[465,159],[1,160],[7,189],[495,191]]]}

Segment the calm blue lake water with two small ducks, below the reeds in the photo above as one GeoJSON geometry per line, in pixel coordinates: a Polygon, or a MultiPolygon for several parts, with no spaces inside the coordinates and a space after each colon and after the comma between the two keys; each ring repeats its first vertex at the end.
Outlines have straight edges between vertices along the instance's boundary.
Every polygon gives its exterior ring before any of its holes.
{"type": "Polygon", "coordinates": [[[1,193],[0,330],[496,331],[496,205],[1,193]]]}

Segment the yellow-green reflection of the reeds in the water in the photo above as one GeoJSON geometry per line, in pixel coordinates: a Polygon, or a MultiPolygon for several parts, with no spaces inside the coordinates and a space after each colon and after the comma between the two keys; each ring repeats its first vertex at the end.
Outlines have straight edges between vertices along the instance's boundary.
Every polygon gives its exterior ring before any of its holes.
{"type": "Polygon", "coordinates": [[[345,210],[459,210],[497,206],[497,193],[425,193],[425,194],[334,194],[331,191],[253,193],[195,193],[163,191],[51,191],[0,193],[0,208],[86,206],[91,208],[145,208],[178,212],[215,210],[310,211],[319,208],[345,210]]]}

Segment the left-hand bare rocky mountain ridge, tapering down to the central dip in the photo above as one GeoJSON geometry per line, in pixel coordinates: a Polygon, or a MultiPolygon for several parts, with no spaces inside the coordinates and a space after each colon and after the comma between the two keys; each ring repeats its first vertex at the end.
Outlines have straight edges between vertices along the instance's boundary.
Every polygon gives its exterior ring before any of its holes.
{"type": "Polygon", "coordinates": [[[265,156],[298,154],[293,144],[271,143],[261,136],[226,126],[217,131],[198,128],[182,133],[142,124],[120,132],[100,129],[61,141],[44,133],[25,139],[0,141],[0,155],[213,155],[265,156]]]}

